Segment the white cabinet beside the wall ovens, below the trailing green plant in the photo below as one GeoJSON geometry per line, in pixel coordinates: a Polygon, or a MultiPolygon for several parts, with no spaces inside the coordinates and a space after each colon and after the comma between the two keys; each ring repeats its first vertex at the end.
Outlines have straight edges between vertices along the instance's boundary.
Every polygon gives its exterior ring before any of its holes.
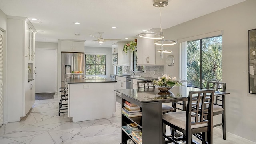
{"type": "Polygon", "coordinates": [[[113,65],[122,65],[122,66],[130,66],[130,52],[128,51],[127,53],[125,53],[123,51],[124,48],[124,44],[126,44],[128,42],[117,42],[114,43],[112,45],[112,51],[117,51],[115,53],[117,53],[117,63],[113,64],[113,65]],[[115,50],[117,49],[117,50],[115,50]]]}

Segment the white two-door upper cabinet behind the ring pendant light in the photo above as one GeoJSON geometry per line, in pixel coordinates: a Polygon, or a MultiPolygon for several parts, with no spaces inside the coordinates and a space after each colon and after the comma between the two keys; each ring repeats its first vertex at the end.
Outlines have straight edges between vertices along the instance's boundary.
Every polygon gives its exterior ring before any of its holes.
{"type": "Polygon", "coordinates": [[[158,49],[160,46],[154,44],[154,39],[137,37],[137,65],[164,65],[158,49]]]}

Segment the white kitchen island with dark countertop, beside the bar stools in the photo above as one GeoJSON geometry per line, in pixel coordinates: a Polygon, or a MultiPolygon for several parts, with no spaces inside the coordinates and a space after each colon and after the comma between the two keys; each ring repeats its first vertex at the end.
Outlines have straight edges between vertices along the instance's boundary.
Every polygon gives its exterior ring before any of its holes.
{"type": "Polygon", "coordinates": [[[66,77],[68,117],[73,122],[111,118],[115,83],[101,77],[66,77]]]}

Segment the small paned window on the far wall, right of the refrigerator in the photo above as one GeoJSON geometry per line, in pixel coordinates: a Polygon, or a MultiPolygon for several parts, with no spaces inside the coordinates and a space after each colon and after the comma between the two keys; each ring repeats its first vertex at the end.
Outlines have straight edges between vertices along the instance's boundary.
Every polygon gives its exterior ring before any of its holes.
{"type": "Polygon", "coordinates": [[[106,75],[106,55],[85,55],[85,75],[106,75]]]}

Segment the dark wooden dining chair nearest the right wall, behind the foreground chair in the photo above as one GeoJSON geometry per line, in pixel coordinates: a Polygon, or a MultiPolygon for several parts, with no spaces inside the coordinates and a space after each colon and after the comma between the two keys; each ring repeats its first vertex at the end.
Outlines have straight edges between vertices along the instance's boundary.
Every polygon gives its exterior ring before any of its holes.
{"type": "MultiPolygon", "coordinates": [[[[206,89],[213,89],[215,91],[226,92],[226,83],[207,81],[206,89]]],[[[222,122],[214,124],[213,127],[222,125],[223,139],[226,140],[226,112],[225,112],[225,95],[216,95],[213,102],[213,116],[222,115],[222,122]]]]}

